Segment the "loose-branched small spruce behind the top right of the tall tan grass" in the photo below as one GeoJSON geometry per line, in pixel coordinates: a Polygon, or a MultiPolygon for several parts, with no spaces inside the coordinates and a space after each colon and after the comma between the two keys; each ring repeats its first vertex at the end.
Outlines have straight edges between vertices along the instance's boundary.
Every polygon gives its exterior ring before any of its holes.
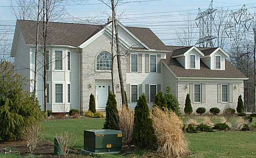
{"type": "Polygon", "coordinates": [[[175,114],[177,116],[181,116],[181,112],[180,112],[180,108],[179,108],[179,101],[175,97],[175,95],[173,95],[171,93],[171,87],[167,86],[166,91],[167,92],[164,94],[164,96],[165,96],[165,98],[167,100],[167,108],[168,108],[168,110],[175,112],[175,114]]]}

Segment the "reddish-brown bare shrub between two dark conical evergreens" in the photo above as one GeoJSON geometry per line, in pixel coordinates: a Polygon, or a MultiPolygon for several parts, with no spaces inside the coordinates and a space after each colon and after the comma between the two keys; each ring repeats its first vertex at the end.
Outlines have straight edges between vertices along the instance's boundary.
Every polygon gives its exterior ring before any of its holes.
{"type": "Polygon", "coordinates": [[[126,108],[125,105],[119,110],[119,127],[123,134],[123,139],[128,146],[132,145],[134,133],[134,111],[126,108]]]}

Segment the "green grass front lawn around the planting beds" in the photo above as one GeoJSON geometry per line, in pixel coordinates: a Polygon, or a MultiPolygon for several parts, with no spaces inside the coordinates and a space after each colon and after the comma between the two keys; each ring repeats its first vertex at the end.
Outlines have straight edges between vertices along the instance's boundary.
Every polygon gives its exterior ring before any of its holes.
{"type": "MultiPolygon", "coordinates": [[[[202,119],[196,116],[196,119],[202,119]]],[[[234,117],[234,122],[238,117],[234,117]]],[[[253,118],[255,123],[255,118],[253,118]]],[[[219,116],[215,117],[218,123],[219,116]]],[[[83,149],[83,131],[102,129],[105,119],[60,119],[42,123],[41,134],[45,139],[54,140],[59,131],[69,131],[77,135],[76,149],[83,149]]],[[[256,157],[255,131],[217,131],[212,133],[185,134],[193,154],[186,158],[253,158],[256,157]]],[[[145,153],[145,152],[144,152],[145,153]]],[[[129,157],[139,158],[143,151],[138,150],[129,157]]],[[[104,155],[102,158],[122,157],[121,155],[104,155]]]]}

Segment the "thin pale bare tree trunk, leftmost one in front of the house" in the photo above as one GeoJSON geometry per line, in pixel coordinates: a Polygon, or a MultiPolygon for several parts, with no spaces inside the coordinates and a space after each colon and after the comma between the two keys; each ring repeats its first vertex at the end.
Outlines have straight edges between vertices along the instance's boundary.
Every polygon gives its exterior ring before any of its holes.
{"type": "MultiPolygon", "coordinates": [[[[34,76],[34,90],[33,90],[33,99],[36,101],[36,92],[37,92],[37,51],[38,51],[38,34],[39,34],[39,18],[40,18],[40,0],[38,0],[37,8],[37,35],[36,35],[36,50],[35,50],[35,76],[34,76]]],[[[36,104],[36,102],[34,103],[36,104]]]]}

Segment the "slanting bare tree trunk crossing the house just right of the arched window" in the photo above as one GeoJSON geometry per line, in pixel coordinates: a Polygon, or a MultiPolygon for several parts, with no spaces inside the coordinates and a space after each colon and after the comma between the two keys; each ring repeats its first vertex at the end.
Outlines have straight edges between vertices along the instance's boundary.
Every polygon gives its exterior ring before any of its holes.
{"type": "Polygon", "coordinates": [[[112,5],[112,13],[114,15],[113,20],[114,20],[114,26],[115,26],[116,45],[117,45],[118,76],[119,76],[119,81],[120,81],[122,105],[123,105],[123,104],[126,104],[126,99],[125,99],[124,82],[123,82],[123,77],[122,77],[120,41],[119,41],[119,36],[118,36],[118,23],[117,23],[117,19],[116,19],[114,0],[111,0],[111,5],[112,5]]]}

